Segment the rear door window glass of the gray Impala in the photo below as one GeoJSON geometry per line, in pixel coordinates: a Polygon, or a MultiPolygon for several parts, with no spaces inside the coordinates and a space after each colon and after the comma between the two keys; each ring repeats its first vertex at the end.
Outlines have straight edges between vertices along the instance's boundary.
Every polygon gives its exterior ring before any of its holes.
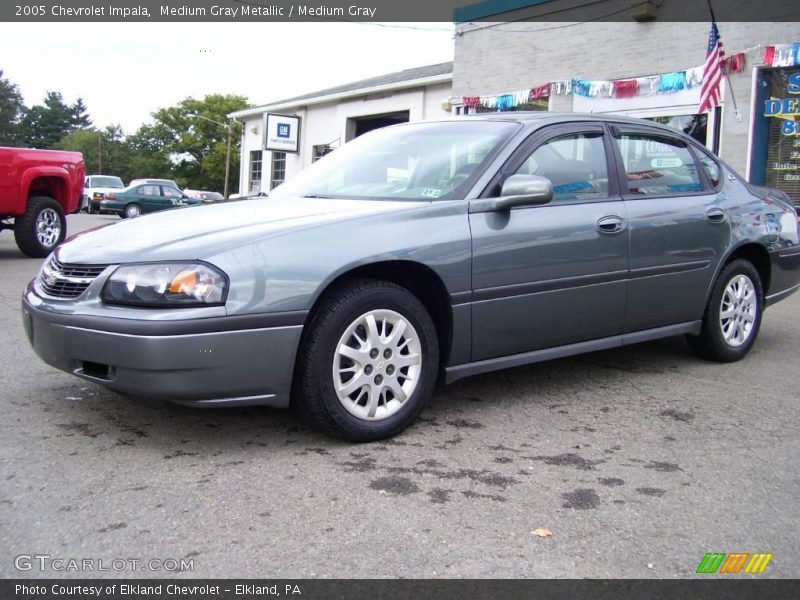
{"type": "Polygon", "coordinates": [[[615,141],[625,167],[626,193],[663,196],[702,191],[697,165],[682,142],[639,134],[621,135],[615,141]]]}

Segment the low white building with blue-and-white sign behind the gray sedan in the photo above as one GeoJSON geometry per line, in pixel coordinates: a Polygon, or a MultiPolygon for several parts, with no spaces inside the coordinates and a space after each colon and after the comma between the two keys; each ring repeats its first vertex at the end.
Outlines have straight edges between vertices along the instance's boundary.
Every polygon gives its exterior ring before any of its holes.
{"type": "MultiPolygon", "coordinates": [[[[441,63],[231,113],[244,123],[239,192],[268,192],[318,158],[373,129],[447,117],[452,81],[453,63],[441,63]],[[268,140],[273,139],[267,135],[269,114],[297,118],[288,121],[299,125],[296,153],[266,149],[268,140]]],[[[283,132],[278,137],[284,137],[283,132]]]]}

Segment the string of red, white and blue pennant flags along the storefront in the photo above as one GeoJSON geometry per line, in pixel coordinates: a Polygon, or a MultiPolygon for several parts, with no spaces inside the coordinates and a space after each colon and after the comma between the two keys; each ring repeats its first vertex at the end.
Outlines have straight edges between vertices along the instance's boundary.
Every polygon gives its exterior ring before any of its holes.
{"type": "MultiPolygon", "coordinates": [[[[725,69],[729,74],[744,71],[747,53],[752,50],[763,50],[760,61],[768,67],[793,67],[800,65],[800,42],[794,44],[778,44],[774,46],[753,46],[725,59],[725,69]]],[[[685,89],[692,89],[703,84],[703,65],[628,79],[588,80],[573,77],[553,81],[534,88],[495,94],[489,96],[463,96],[462,106],[470,109],[490,109],[496,111],[515,110],[520,106],[547,100],[551,95],[575,95],[587,98],[633,98],[635,96],[652,96],[654,94],[671,94],[685,89]]]]}

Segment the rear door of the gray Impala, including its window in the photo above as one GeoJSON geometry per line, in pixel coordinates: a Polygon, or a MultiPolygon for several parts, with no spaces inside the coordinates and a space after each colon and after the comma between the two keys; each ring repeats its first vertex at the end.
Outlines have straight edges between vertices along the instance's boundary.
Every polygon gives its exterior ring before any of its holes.
{"type": "Polygon", "coordinates": [[[731,238],[719,169],[699,168],[679,136],[611,127],[630,221],[625,331],[700,319],[706,292],[731,238]]]}

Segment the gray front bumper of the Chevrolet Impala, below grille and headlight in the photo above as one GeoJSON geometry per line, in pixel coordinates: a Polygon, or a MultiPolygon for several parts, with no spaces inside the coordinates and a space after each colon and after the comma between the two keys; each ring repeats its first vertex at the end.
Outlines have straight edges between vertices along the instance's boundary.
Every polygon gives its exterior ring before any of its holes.
{"type": "Polygon", "coordinates": [[[193,406],[285,407],[304,314],[89,317],[48,310],[28,288],[22,317],[44,362],[112,390],[193,406]]]}

